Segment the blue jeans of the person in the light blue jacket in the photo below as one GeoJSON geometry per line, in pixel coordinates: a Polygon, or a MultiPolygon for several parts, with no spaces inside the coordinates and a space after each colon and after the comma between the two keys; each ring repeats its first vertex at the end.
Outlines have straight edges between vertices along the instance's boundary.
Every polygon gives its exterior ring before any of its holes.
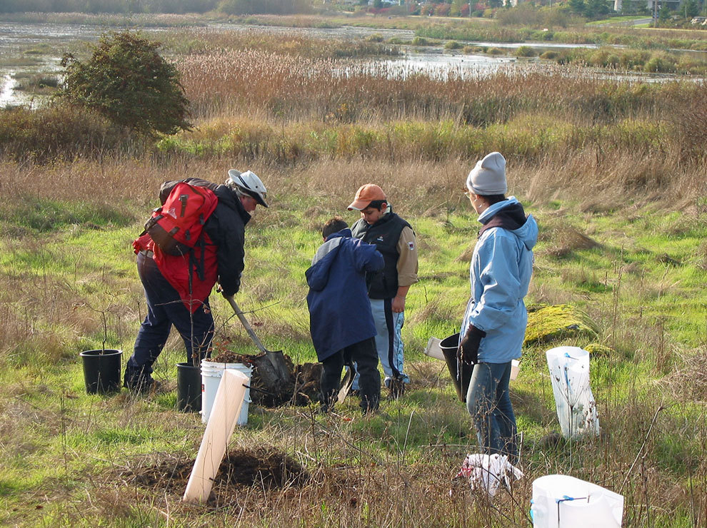
{"type": "Polygon", "coordinates": [[[487,455],[508,455],[518,462],[516,416],[513,415],[508,381],[511,362],[478,363],[471,373],[466,408],[473,419],[478,445],[487,455]]]}

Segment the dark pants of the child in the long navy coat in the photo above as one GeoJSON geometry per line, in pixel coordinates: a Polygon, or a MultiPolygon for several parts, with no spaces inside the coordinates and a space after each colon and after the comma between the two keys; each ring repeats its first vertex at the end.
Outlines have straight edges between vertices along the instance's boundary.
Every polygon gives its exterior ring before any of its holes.
{"type": "Polygon", "coordinates": [[[361,411],[377,410],[378,401],[381,399],[381,373],[378,372],[378,352],[373,337],[349,345],[321,362],[321,404],[326,409],[334,407],[341,384],[341,370],[345,364],[350,365],[352,361],[356,362],[360,375],[358,390],[361,395],[361,411]]]}

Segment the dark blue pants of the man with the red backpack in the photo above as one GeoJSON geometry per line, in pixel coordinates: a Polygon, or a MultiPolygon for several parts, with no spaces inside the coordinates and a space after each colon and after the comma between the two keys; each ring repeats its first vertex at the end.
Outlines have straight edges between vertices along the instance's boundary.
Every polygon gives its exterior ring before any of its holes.
{"type": "Polygon", "coordinates": [[[209,308],[209,298],[194,313],[189,313],[179,298],[179,293],[160,273],[154,259],[139,253],[138,275],[145,288],[147,315],[140,325],[133,355],[126,366],[126,380],[149,377],[172,325],[184,340],[186,361],[206,356],[214,337],[214,318],[209,308]]]}

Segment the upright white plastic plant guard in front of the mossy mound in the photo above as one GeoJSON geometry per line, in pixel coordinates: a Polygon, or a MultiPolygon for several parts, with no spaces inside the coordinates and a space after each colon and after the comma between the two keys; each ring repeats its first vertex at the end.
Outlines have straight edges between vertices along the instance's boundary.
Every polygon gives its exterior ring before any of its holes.
{"type": "Polygon", "coordinates": [[[598,435],[596,402],[589,387],[589,352],[556,347],[545,353],[562,436],[570,440],[598,435]]]}

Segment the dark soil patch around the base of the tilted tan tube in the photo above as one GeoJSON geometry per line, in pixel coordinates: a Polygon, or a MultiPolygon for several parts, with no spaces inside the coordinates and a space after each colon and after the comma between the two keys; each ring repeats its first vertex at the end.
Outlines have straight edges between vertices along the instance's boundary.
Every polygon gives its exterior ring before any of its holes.
{"type": "MultiPolygon", "coordinates": [[[[193,467],[193,459],[167,455],[156,464],[128,469],[121,477],[141,487],[181,493],[186,489],[193,467]]],[[[214,479],[214,486],[257,485],[273,489],[304,484],[308,479],[309,472],[289,455],[272,447],[258,447],[226,453],[214,479]]]]}

